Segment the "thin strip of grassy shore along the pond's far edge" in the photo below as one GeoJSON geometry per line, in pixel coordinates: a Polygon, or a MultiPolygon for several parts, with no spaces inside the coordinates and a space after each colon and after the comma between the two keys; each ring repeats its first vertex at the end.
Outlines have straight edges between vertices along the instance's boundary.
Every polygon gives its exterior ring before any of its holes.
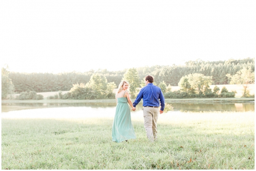
{"type": "MultiPolygon", "coordinates": [[[[135,99],[131,99],[134,101],[135,99]]],[[[219,102],[254,102],[254,98],[166,98],[165,102],[193,102],[193,103],[219,103],[219,102]]],[[[2,103],[116,103],[116,99],[95,99],[95,100],[2,100],[2,103]]]]}

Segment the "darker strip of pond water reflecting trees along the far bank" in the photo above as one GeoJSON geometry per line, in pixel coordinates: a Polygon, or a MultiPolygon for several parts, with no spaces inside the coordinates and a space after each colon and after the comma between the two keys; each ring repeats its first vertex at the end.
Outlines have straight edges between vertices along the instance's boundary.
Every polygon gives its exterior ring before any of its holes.
{"type": "MultiPolygon", "coordinates": [[[[254,103],[170,103],[174,111],[254,111],[254,103]]],[[[2,103],[2,112],[24,109],[41,109],[56,107],[90,107],[93,109],[108,109],[116,107],[116,103],[2,103]]],[[[136,111],[142,110],[142,103],[136,106],[136,111]]]]}

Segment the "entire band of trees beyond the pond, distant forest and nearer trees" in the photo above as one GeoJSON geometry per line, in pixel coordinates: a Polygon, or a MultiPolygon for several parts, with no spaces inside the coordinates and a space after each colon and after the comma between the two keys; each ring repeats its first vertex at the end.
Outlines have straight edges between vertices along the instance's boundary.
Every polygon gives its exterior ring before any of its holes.
{"type": "Polygon", "coordinates": [[[242,84],[244,86],[243,96],[246,97],[248,96],[247,85],[254,83],[254,58],[229,59],[228,61],[218,62],[205,62],[198,59],[188,61],[182,66],[155,65],[152,67],[130,68],[123,71],[107,71],[105,69],[90,70],[85,73],[59,74],[14,73],[9,72],[7,67],[2,68],[2,99],[7,94],[14,92],[23,92],[20,96],[22,99],[27,97],[40,99],[41,97],[34,95],[35,92],[49,91],[70,91],[67,94],[69,97],[59,94],[64,99],[113,98],[112,91],[121,80],[130,82],[131,96],[135,97],[138,93],[136,88],[145,86],[143,77],[146,75],[154,76],[154,84],[158,85],[163,92],[169,92],[169,95],[167,95],[170,98],[189,98],[190,96],[194,97],[195,94],[200,95],[200,97],[202,95],[203,97],[216,97],[216,92],[213,90],[215,94],[212,94],[209,85],[222,82],[224,82],[222,84],[242,84]],[[173,85],[180,86],[180,92],[170,91],[173,85]],[[79,97],[81,94],[84,95],[79,97]]]}

